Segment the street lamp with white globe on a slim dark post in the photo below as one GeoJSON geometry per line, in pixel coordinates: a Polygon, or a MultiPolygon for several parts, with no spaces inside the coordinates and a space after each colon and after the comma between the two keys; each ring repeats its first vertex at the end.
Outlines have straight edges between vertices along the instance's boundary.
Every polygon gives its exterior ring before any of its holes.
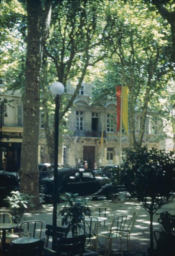
{"type": "Polygon", "coordinates": [[[52,225],[57,225],[57,176],[58,176],[58,137],[59,137],[59,110],[60,95],[64,92],[64,86],[60,82],[55,82],[50,86],[51,93],[55,94],[55,143],[54,143],[54,188],[53,188],[53,218],[52,225]]]}

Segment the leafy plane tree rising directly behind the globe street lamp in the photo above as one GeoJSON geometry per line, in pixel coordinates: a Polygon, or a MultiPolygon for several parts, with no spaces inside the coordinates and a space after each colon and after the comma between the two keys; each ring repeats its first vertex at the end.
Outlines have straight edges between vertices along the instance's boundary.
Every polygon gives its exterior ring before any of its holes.
{"type": "MultiPolygon", "coordinates": [[[[48,84],[54,79],[64,86],[71,82],[72,96],[60,96],[60,119],[70,110],[89,68],[109,55],[109,41],[116,17],[109,12],[106,1],[65,0],[57,2],[52,11],[49,38],[44,49],[42,91],[44,128],[51,161],[53,160],[53,130],[49,127],[50,108],[48,84]]],[[[110,52],[110,55],[112,52],[110,52]]],[[[61,143],[60,143],[61,144],[61,143]]]]}

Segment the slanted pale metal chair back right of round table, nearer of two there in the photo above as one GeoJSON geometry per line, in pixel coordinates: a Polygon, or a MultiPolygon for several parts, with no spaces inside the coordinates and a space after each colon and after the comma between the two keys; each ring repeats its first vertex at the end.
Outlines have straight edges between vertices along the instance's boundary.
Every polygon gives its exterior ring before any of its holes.
{"type": "Polygon", "coordinates": [[[126,223],[126,215],[117,216],[113,219],[112,225],[109,231],[109,236],[113,236],[113,238],[118,238],[122,236],[122,231],[124,229],[126,223]]]}

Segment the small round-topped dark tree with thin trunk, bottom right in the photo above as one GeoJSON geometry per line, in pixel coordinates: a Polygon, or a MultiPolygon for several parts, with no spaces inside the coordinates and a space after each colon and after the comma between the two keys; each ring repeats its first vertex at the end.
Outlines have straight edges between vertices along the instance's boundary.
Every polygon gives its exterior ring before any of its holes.
{"type": "MultiPolygon", "coordinates": [[[[146,147],[127,152],[122,166],[123,182],[133,198],[150,216],[149,255],[156,255],[153,246],[153,215],[164,204],[172,200],[175,189],[175,167],[173,152],[165,153],[146,147]]],[[[122,171],[121,171],[122,172],[122,171]]]]}

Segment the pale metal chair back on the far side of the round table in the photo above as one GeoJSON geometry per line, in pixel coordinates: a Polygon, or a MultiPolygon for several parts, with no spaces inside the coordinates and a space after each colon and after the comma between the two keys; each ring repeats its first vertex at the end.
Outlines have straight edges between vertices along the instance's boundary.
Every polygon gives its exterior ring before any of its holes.
{"type": "Polygon", "coordinates": [[[98,228],[106,227],[106,224],[111,224],[112,209],[110,207],[95,207],[93,215],[108,218],[107,221],[100,221],[98,228]]]}

